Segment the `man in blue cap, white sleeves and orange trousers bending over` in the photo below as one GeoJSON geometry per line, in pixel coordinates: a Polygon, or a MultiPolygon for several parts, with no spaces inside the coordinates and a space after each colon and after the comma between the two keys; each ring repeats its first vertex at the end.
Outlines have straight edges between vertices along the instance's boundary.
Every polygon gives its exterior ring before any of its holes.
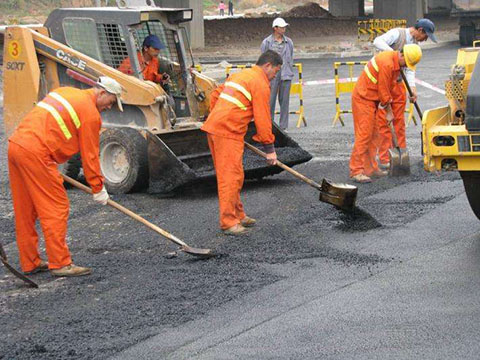
{"type": "MultiPolygon", "coordinates": [[[[405,28],[395,28],[387,33],[375,38],[373,45],[378,51],[402,51],[403,47],[408,44],[417,44],[427,39],[437,42],[434,35],[435,25],[429,19],[417,20],[415,26],[405,28]]],[[[405,69],[405,77],[412,89],[413,96],[411,102],[417,100],[417,88],[415,86],[415,71],[405,69]]],[[[397,135],[398,145],[400,148],[407,147],[407,139],[405,135],[405,106],[407,105],[407,96],[405,85],[402,79],[398,79],[396,86],[392,90],[392,111],[393,111],[393,127],[397,135]]],[[[393,147],[392,132],[387,125],[385,110],[379,110],[378,116],[378,136],[376,137],[378,147],[379,167],[387,170],[390,167],[388,150],[393,147]]]]}

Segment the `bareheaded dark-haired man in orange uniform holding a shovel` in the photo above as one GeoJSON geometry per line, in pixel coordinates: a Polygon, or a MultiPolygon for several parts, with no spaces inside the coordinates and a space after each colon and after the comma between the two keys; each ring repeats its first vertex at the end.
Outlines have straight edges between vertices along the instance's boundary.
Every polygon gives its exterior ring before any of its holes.
{"type": "Polygon", "coordinates": [[[270,80],[282,66],[282,58],[272,50],[264,52],[255,66],[232,74],[212,94],[210,115],[202,126],[207,132],[217,174],[220,227],[227,235],[241,235],[255,219],[243,209],[243,148],[248,124],[255,121],[253,140],[263,144],[267,163],[275,165],[275,136],[270,117],[270,80]]]}

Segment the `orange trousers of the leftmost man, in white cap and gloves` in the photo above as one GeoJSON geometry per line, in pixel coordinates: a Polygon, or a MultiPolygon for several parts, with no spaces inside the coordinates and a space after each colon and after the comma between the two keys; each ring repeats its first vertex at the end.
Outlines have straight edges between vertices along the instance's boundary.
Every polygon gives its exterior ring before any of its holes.
{"type": "Polygon", "coordinates": [[[69,202],[57,164],[48,156],[39,157],[9,142],[8,171],[22,270],[32,271],[40,265],[37,218],[45,239],[48,267],[70,265],[72,259],[65,240],[69,202]]]}

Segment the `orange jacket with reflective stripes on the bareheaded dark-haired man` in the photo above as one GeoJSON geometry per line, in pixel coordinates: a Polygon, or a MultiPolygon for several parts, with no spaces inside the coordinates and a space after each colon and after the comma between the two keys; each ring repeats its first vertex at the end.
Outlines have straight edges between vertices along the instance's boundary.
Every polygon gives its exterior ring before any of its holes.
{"type": "Polygon", "coordinates": [[[253,140],[273,144],[270,117],[270,82],[259,66],[244,69],[229,76],[214,90],[210,100],[210,115],[202,130],[213,135],[243,141],[248,123],[255,121],[257,133],[253,140]]]}

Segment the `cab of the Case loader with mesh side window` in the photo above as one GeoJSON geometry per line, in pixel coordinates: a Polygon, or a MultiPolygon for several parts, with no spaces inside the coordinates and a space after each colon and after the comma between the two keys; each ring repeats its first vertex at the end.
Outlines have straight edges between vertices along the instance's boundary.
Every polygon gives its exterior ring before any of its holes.
{"type": "MultiPolygon", "coordinates": [[[[180,23],[191,21],[191,9],[146,8],[73,8],[57,9],[45,26],[50,36],[112,68],[119,69],[130,60],[132,76],[143,80],[138,54],[150,34],[165,45],[158,56],[159,72],[170,76],[168,93],[177,118],[195,113],[196,104],[189,103],[189,69],[193,61],[185,51],[188,40],[180,23]]],[[[59,71],[60,83],[74,85],[64,71],[59,71]]],[[[160,85],[158,85],[160,86],[160,85]]]]}

